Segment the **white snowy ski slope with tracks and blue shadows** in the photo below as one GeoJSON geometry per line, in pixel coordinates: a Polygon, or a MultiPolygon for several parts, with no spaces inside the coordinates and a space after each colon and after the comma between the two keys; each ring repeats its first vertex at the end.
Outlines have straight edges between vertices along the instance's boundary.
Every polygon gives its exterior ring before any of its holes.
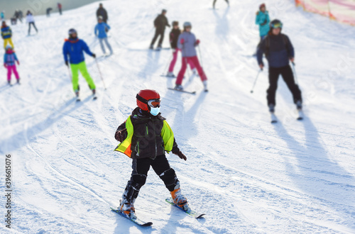
{"type": "MultiPolygon", "coordinates": [[[[279,83],[271,125],[266,108],[267,72],[250,94],[258,67],[250,55],[258,43],[259,1],[104,1],[115,54],[86,57],[99,99],[80,78],[83,101],[75,103],[62,59],[69,28],[101,55],[93,30],[97,3],[36,17],[40,32],[26,36],[13,26],[21,86],[0,84],[0,152],[13,154],[13,233],[355,233],[355,28],[295,9],[293,1],[266,1],[271,18],[284,22],[296,51],[305,121],[279,83]],[[168,91],[160,77],[170,51],[146,50],[160,9],[170,21],[191,21],[201,40],[209,93],[198,78],[168,91]],[[114,132],[135,107],[139,89],[156,89],[161,111],[187,161],[168,155],[190,206],[207,213],[195,220],[164,199],[163,182],[149,172],[136,213],[139,228],[109,210],[117,206],[131,160],[114,152],[114,132]]],[[[168,33],[166,33],[168,36],[168,33]]],[[[165,39],[165,47],[168,40],[165,39]]],[[[175,73],[180,62],[175,67],[175,73]]],[[[1,175],[4,178],[4,157],[1,175]]],[[[1,179],[4,191],[4,179],[1,179]]],[[[5,212],[1,196],[1,212],[5,212]]],[[[4,223],[0,232],[7,230],[4,223]]]]}

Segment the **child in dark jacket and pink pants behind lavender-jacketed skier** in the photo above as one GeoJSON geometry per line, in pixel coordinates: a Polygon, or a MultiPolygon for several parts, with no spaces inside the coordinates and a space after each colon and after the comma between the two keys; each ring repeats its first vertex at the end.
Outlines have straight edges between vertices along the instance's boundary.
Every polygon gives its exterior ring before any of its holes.
{"type": "MultiPolygon", "coordinates": [[[[178,38],[180,34],[181,34],[181,30],[179,28],[179,22],[173,21],[173,29],[171,30],[169,35],[170,46],[173,49],[173,60],[171,60],[170,62],[169,71],[168,74],[166,75],[167,77],[175,77],[173,71],[174,71],[176,60],[178,60],[178,52],[180,51],[180,49],[178,48],[178,38]]],[[[187,62],[189,63],[192,72],[196,74],[197,72],[194,64],[191,61],[187,61],[187,62]]]]}

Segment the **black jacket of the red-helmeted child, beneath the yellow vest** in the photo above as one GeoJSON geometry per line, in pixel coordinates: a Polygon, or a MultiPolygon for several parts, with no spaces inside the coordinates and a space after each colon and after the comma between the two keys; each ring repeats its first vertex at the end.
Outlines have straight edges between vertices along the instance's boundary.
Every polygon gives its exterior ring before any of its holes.
{"type": "MultiPolygon", "coordinates": [[[[165,118],[160,116],[152,116],[148,111],[142,111],[141,108],[135,108],[131,114],[131,122],[133,124],[133,137],[131,142],[131,158],[151,158],[165,155],[164,141],[161,137],[165,118]]],[[[117,131],[126,128],[126,122],[122,123],[117,131]]],[[[127,135],[125,136],[125,138],[127,135]]],[[[175,142],[171,152],[178,153],[180,150],[175,142]]]]}

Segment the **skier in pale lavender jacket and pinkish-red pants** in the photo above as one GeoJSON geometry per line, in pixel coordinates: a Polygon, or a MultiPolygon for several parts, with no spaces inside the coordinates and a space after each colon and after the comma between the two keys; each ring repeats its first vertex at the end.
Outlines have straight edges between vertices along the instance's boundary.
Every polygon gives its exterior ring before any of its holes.
{"type": "Polygon", "coordinates": [[[184,31],[180,34],[178,39],[178,48],[182,51],[182,66],[176,79],[176,86],[174,89],[183,90],[182,88],[182,79],[187,68],[187,62],[192,62],[204,85],[204,91],[207,91],[207,77],[204,74],[204,71],[200,65],[200,62],[197,58],[197,53],[195,47],[200,45],[200,40],[196,40],[195,34],[191,33],[192,25],[190,22],[184,23],[184,31]]]}

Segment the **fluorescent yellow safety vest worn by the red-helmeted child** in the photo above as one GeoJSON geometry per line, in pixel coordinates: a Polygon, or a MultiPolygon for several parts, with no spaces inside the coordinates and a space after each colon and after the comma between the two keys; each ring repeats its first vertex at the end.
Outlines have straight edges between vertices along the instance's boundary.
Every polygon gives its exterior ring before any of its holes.
{"type": "MultiPolygon", "coordinates": [[[[127,129],[127,138],[122,143],[117,145],[115,151],[123,152],[128,157],[131,157],[132,154],[131,145],[132,145],[132,137],[133,137],[133,124],[131,121],[131,116],[127,118],[126,129],[127,129]]],[[[161,129],[160,135],[164,141],[165,151],[170,152],[171,150],[173,150],[174,133],[173,130],[171,130],[170,126],[168,125],[168,122],[163,121],[163,128],[161,129]]]]}

